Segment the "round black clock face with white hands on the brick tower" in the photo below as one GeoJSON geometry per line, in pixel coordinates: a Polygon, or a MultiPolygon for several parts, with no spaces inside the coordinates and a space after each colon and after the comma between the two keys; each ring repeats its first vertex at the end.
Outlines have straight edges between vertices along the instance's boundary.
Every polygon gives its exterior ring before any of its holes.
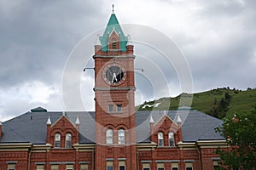
{"type": "Polygon", "coordinates": [[[121,65],[108,65],[103,70],[103,78],[105,82],[111,85],[119,85],[125,80],[125,69],[121,65]]]}

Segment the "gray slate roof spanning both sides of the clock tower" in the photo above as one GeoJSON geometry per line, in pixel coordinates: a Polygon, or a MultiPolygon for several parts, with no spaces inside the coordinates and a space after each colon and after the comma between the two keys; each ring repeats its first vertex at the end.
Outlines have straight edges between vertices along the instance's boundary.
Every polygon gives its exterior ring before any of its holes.
{"type": "MultiPolygon", "coordinates": [[[[42,108],[44,109],[44,108],[42,108]]],[[[219,133],[215,133],[214,127],[223,122],[215,117],[208,116],[200,111],[189,111],[181,109],[177,111],[137,111],[136,132],[137,143],[150,142],[149,120],[153,117],[154,123],[158,122],[166,114],[174,122],[177,122],[177,115],[182,119],[183,142],[195,142],[198,140],[224,139],[219,133]]],[[[46,122],[50,117],[51,123],[55,123],[63,113],[50,111],[26,112],[23,115],[3,122],[3,136],[0,143],[46,143],[46,122]]],[[[67,118],[75,124],[77,116],[80,121],[80,144],[95,143],[95,112],[93,111],[67,111],[67,118]]]]}

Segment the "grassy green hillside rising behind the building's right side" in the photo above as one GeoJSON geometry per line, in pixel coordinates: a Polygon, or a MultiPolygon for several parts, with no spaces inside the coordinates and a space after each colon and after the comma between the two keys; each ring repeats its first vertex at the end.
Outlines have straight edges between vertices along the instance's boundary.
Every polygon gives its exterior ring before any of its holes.
{"type": "Polygon", "coordinates": [[[232,116],[237,111],[251,111],[252,105],[256,105],[256,89],[248,88],[241,91],[235,88],[217,88],[196,94],[180,94],[175,98],[144,102],[143,105],[138,105],[137,109],[140,111],[177,110],[178,105],[191,106],[194,110],[224,118],[232,116]],[[181,96],[182,100],[180,100],[181,96]],[[191,99],[192,105],[189,104],[191,99]]]}

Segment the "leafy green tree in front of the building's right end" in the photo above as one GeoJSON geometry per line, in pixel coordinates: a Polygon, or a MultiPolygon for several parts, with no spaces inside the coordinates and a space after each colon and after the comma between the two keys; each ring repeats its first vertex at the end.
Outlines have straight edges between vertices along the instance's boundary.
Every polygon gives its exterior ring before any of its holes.
{"type": "Polygon", "coordinates": [[[216,128],[226,139],[229,148],[218,148],[221,164],[227,169],[256,168],[256,105],[247,114],[237,114],[216,128]]]}

